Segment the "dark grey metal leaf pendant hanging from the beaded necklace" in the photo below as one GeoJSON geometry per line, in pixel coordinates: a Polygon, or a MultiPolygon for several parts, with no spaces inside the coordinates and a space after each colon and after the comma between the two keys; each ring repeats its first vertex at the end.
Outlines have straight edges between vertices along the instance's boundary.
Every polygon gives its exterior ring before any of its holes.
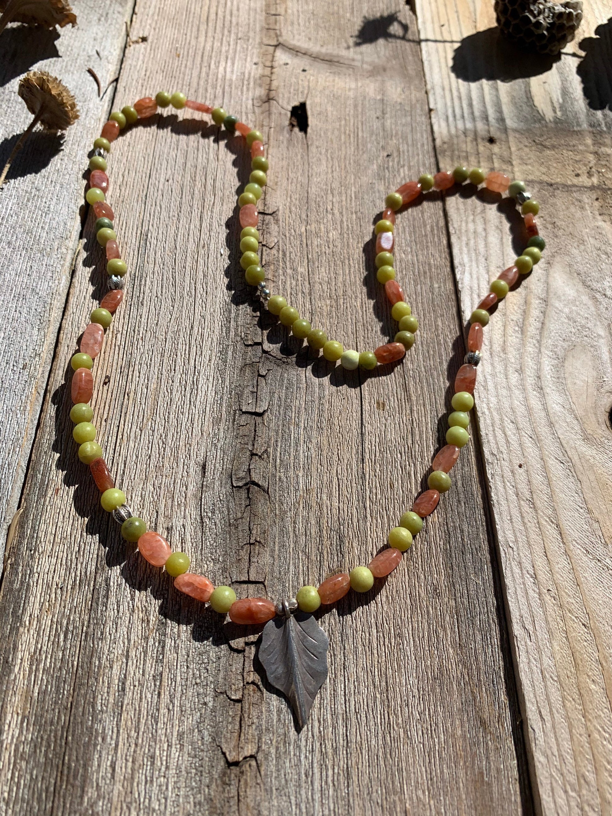
{"type": "Polygon", "coordinates": [[[312,614],[304,612],[268,621],[261,636],[259,660],[268,681],[289,698],[300,729],[327,676],[329,644],[312,614]]]}

